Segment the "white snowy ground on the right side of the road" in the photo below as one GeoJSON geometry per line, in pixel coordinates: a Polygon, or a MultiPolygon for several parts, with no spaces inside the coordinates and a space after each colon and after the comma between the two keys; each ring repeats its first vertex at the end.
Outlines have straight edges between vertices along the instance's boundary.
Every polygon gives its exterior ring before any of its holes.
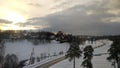
{"type": "MultiPolygon", "coordinates": [[[[105,42],[106,45],[95,49],[94,54],[106,53],[108,48],[110,47],[110,44],[112,43],[108,40],[104,40],[101,42],[105,42]]],[[[111,63],[106,60],[107,57],[108,55],[94,56],[92,60],[93,68],[114,68],[113,66],[111,66],[111,63]]],[[[82,57],[80,59],[76,59],[76,68],[82,68],[82,61],[82,57]]],[[[51,66],[50,68],[73,68],[73,62],[69,62],[68,59],[66,59],[51,66]]]]}

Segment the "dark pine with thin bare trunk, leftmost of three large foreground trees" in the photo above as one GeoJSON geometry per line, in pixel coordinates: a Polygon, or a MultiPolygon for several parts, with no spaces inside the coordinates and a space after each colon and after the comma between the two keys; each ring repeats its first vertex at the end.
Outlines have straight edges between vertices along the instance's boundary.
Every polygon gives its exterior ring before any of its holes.
{"type": "Polygon", "coordinates": [[[75,68],[75,58],[79,58],[81,56],[82,51],[79,48],[80,42],[77,37],[73,37],[72,42],[70,43],[70,47],[67,51],[66,58],[69,58],[69,61],[73,60],[73,68],[75,68]]]}

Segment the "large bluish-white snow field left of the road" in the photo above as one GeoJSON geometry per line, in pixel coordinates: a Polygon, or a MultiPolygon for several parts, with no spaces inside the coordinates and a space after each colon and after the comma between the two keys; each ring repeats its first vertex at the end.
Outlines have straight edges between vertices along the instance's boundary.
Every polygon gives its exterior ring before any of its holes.
{"type": "Polygon", "coordinates": [[[19,61],[30,58],[32,49],[34,48],[35,57],[40,56],[41,53],[59,53],[60,51],[66,52],[69,47],[68,43],[58,43],[52,41],[50,44],[33,45],[27,40],[6,42],[5,43],[5,55],[15,54],[18,56],[19,61]]]}

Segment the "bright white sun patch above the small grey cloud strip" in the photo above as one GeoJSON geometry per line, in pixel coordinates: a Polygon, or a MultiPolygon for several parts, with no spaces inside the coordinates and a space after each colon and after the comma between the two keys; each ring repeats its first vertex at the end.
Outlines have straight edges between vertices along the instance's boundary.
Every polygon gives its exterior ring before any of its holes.
{"type": "Polygon", "coordinates": [[[26,19],[24,16],[17,14],[15,12],[7,12],[6,19],[9,21],[12,21],[13,24],[26,22],[26,19]]]}

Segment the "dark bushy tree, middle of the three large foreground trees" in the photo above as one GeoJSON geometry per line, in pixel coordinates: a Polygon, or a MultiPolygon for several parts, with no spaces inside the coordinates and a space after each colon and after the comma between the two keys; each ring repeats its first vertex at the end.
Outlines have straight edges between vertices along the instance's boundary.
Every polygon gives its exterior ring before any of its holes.
{"type": "Polygon", "coordinates": [[[91,63],[93,57],[93,51],[94,51],[93,47],[91,45],[86,46],[83,51],[84,51],[84,57],[83,57],[84,61],[82,62],[82,66],[86,68],[93,68],[91,63]]]}

